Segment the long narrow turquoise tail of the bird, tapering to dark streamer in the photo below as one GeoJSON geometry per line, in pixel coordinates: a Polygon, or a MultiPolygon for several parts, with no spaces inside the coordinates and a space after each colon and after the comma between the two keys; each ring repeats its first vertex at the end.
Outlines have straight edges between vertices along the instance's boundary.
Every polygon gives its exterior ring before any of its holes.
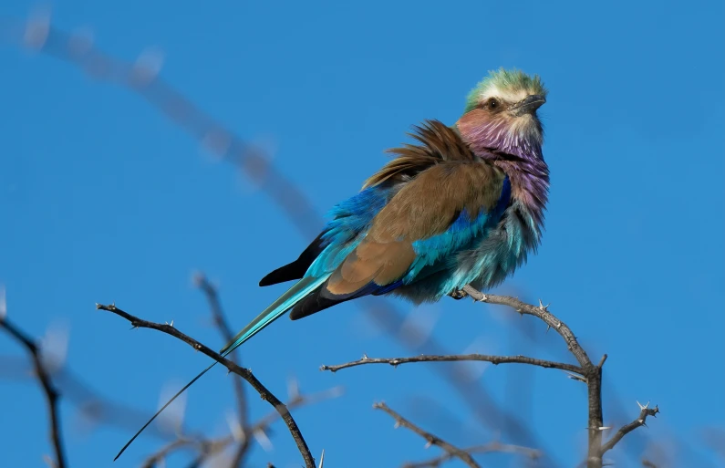
{"type": "MultiPolygon", "coordinates": [[[[244,327],[242,331],[240,331],[239,334],[234,337],[232,341],[229,342],[229,344],[227,344],[224,348],[222,348],[221,351],[219,351],[219,354],[221,354],[223,357],[226,357],[235,348],[240,347],[244,341],[254,337],[254,335],[256,335],[260,330],[274,322],[274,320],[282,316],[282,314],[284,314],[287,310],[295,307],[295,304],[297,302],[304,299],[305,296],[314,291],[316,287],[325,283],[326,279],[327,276],[323,276],[321,278],[306,277],[299,280],[297,283],[295,283],[295,286],[290,287],[287,292],[285,292],[285,294],[275,300],[269,307],[265,308],[261,314],[259,314],[256,318],[254,318],[254,320],[249,323],[249,325],[244,327]]],[[[167,401],[166,404],[161,407],[161,410],[156,411],[156,414],[151,416],[151,419],[147,421],[142,428],[140,428],[139,432],[136,432],[133,437],[130,438],[129,442],[126,442],[126,445],[123,446],[123,448],[120,450],[119,454],[116,455],[116,458],[114,458],[113,461],[115,462],[116,460],[118,460],[119,456],[121,456],[121,453],[125,452],[126,449],[129,448],[131,442],[135,441],[136,438],[139,437],[140,433],[143,432],[144,429],[149,427],[149,424],[161,414],[161,411],[166,410],[166,408],[171,404],[171,401],[176,400],[179,395],[181,395],[181,393],[191,387],[196,380],[199,380],[202,375],[204,375],[209,369],[212,369],[214,365],[216,365],[216,361],[212,362],[212,364],[208,368],[203,369],[199,373],[199,375],[192,379],[192,381],[184,385],[183,388],[176,393],[176,395],[171,397],[171,400],[167,401]]]]}

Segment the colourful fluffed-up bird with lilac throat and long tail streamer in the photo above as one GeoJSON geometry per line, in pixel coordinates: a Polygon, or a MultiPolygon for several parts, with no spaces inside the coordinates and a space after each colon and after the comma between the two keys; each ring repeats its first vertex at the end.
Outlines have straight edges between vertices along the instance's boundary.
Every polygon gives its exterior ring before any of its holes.
{"type": "MultiPolygon", "coordinates": [[[[259,286],[295,281],[222,350],[225,357],[289,312],[297,320],[362,296],[414,304],[461,298],[467,285],[497,286],[535,253],[544,231],[549,169],[537,110],[548,91],[538,75],[490,71],[452,126],[424,120],[415,140],[338,203],[299,257],[259,286]]],[[[188,389],[216,361],[181,389],[188,389]]]]}

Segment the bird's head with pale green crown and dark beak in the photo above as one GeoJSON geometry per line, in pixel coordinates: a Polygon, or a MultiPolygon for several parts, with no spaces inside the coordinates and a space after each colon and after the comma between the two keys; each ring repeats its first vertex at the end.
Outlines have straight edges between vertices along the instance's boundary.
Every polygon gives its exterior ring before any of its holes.
{"type": "Polygon", "coordinates": [[[466,100],[457,122],[473,151],[495,149],[541,157],[544,129],[536,109],[546,102],[541,78],[503,68],[489,73],[466,100]]]}

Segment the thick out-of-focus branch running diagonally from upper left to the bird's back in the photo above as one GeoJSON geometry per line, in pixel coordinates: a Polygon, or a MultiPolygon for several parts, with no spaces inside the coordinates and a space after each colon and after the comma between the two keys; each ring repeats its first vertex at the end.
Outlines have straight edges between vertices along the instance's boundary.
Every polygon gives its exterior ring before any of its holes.
{"type": "Polygon", "coordinates": [[[217,157],[233,162],[268,192],[305,235],[315,236],[318,219],[305,192],[272,165],[257,146],[234,135],[192,100],[160,77],[161,56],[146,52],[133,63],[112,57],[95,47],[90,36],[68,33],[53,26],[50,16],[36,16],[23,24],[3,27],[5,37],[21,47],[57,57],[80,68],[89,77],[129,88],[171,121],[186,130],[217,157]]]}

